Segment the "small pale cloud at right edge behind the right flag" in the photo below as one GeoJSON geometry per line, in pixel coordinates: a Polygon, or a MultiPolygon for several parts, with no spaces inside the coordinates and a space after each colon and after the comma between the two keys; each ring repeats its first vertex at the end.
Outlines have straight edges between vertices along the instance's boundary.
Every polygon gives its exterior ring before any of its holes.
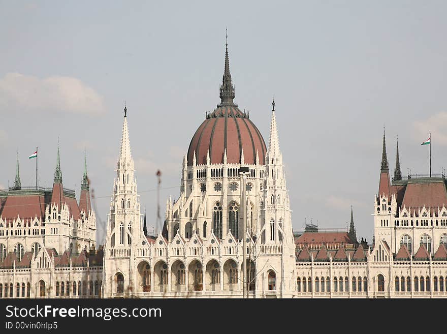
{"type": "Polygon", "coordinates": [[[428,138],[429,133],[433,138],[436,138],[436,144],[447,145],[447,133],[445,128],[447,127],[447,112],[442,111],[428,117],[425,120],[419,120],[413,122],[414,138],[418,142],[423,142],[428,138]]]}

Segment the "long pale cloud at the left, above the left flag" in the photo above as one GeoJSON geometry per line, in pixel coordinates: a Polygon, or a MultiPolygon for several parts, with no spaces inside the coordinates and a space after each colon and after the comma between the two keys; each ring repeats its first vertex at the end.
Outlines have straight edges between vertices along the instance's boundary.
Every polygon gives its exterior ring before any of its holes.
{"type": "Polygon", "coordinates": [[[39,79],[20,73],[8,73],[0,78],[0,107],[90,115],[105,111],[102,96],[77,78],[39,79]]]}

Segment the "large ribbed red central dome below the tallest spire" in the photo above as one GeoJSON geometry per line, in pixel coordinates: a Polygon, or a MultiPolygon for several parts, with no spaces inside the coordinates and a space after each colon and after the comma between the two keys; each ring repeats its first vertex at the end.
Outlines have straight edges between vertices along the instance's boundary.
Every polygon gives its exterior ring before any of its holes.
{"type": "Polygon", "coordinates": [[[248,115],[234,105],[219,105],[194,134],[188,148],[188,166],[193,165],[194,152],[198,165],[206,164],[209,149],[210,163],[222,164],[224,149],[227,163],[240,164],[244,151],[244,163],[255,164],[258,151],[259,163],[265,164],[267,154],[264,138],[248,115]]]}

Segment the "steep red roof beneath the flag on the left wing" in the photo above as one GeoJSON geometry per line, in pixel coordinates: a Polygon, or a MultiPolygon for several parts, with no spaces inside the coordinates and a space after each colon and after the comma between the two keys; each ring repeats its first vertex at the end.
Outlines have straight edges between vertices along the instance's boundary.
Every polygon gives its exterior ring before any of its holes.
{"type": "Polygon", "coordinates": [[[43,195],[9,195],[0,207],[0,215],[4,220],[38,219],[45,215],[45,198],[43,195]]]}

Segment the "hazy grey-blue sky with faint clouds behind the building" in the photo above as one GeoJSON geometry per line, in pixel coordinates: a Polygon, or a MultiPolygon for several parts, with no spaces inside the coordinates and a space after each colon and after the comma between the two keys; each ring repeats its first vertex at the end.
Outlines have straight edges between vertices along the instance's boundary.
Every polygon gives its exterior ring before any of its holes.
{"type": "Polygon", "coordinates": [[[97,218],[109,211],[127,101],[142,210],[156,217],[155,171],[179,196],[182,156],[219,103],[228,27],[235,102],[268,141],[272,94],[293,226],[313,219],[372,240],[381,140],[390,172],[447,167],[446,2],[0,1],[0,188],[52,185],[60,139],[65,187],[83,151],[97,218]]]}

